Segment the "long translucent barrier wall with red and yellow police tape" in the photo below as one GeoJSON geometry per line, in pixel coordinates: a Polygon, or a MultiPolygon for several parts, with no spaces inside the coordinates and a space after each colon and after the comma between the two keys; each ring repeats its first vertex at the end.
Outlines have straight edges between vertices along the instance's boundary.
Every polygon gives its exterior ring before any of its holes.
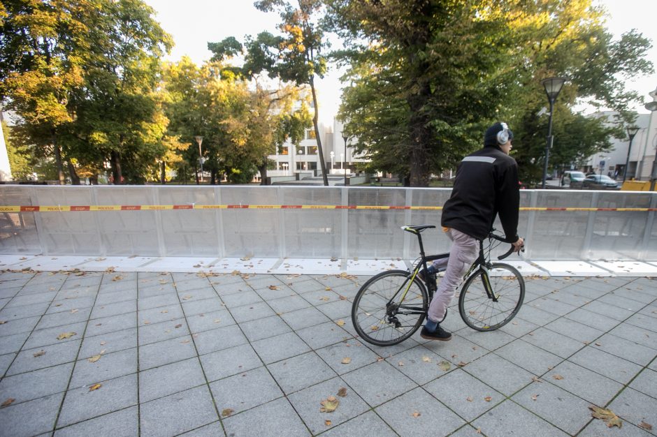
{"type": "MultiPolygon", "coordinates": [[[[411,259],[417,243],[400,226],[440,224],[440,211],[417,207],[440,207],[449,193],[449,188],[1,185],[0,253],[411,259]],[[66,211],[10,208],[58,205],[66,211]],[[116,205],[194,209],[68,211],[116,205]]],[[[657,260],[657,193],[524,190],[521,208],[526,258],[657,260]]],[[[449,248],[440,230],[424,237],[428,252],[449,248]]]]}

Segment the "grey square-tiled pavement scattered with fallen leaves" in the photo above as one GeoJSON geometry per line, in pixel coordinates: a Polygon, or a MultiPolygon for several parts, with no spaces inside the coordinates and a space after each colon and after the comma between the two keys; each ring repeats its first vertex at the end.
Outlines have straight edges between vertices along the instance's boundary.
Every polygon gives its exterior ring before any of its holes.
{"type": "Polygon", "coordinates": [[[377,348],[365,279],[1,272],[0,435],[657,434],[657,281],[527,278],[497,332],[452,310],[452,341],[377,348]]]}

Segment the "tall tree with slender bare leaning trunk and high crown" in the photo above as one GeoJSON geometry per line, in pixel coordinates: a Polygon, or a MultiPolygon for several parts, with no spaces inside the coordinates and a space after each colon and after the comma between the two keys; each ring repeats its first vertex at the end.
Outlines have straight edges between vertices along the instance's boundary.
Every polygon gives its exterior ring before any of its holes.
{"type": "Polygon", "coordinates": [[[326,160],[319,135],[319,105],[315,76],[326,73],[326,57],[322,53],[327,43],[324,30],[316,17],[323,10],[322,0],[298,0],[296,6],[284,0],[259,0],[256,8],[264,12],[277,11],[281,17],[282,36],[262,32],[247,42],[247,56],[244,69],[251,74],[267,71],[270,77],[280,77],[286,82],[301,86],[307,84],[312,96],[314,114],[312,124],[319,151],[319,164],[322,168],[324,185],[329,185],[326,175],[326,160]]]}

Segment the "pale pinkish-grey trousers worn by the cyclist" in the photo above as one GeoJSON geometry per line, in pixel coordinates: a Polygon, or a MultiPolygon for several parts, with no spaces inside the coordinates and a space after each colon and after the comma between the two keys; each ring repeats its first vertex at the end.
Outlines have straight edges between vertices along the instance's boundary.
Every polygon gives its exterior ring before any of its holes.
{"type": "Polygon", "coordinates": [[[470,235],[456,229],[447,230],[447,237],[452,240],[452,249],[449,250],[449,258],[434,262],[436,267],[447,262],[445,276],[438,285],[431,304],[429,305],[428,318],[434,322],[442,322],[449,302],[454,297],[456,287],[463,279],[463,274],[470,268],[472,262],[477,259],[479,252],[479,241],[470,235]]]}

